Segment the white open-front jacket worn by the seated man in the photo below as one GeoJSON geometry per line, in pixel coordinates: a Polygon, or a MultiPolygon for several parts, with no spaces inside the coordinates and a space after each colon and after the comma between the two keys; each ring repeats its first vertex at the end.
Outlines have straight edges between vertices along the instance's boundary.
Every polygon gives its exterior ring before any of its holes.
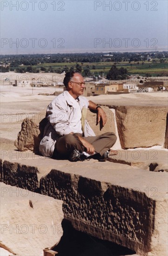
{"type": "MultiPolygon", "coordinates": [[[[71,122],[74,120],[75,107],[70,94],[64,91],[54,98],[47,107],[47,125],[44,129],[44,137],[40,142],[39,151],[43,156],[52,157],[55,143],[60,136],[73,132],[71,122]]],[[[79,96],[79,105],[88,108],[87,98],[79,96]]],[[[94,131],[85,120],[84,136],[95,136],[94,131]]]]}

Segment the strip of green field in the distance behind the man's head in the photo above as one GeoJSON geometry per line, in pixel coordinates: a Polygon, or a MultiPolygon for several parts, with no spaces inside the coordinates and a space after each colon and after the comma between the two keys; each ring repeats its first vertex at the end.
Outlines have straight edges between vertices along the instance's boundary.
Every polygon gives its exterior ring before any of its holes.
{"type": "MultiPolygon", "coordinates": [[[[105,73],[105,75],[108,73],[108,71],[110,70],[110,68],[112,67],[112,65],[114,65],[114,62],[93,62],[93,63],[78,63],[81,67],[82,67],[82,73],[83,70],[85,69],[85,67],[88,65],[90,68],[90,73],[93,74],[95,76],[98,76],[99,74],[102,74],[102,72],[105,73]],[[93,66],[95,66],[95,69],[93,69],[93,66]]],[[[39,64],[39,65],[35,65],[33,66],[34,68],[40,68],[40,67],[45,67],[45,68],[49,68],[52,67],[54,70],[61,68],[63,69],[63,67],[67,66],[68,68],[70,67],[76,67],[76,63],[43,63],[43,64],[39,64]]],[[[24,66],[22,66],[24,67],[24,66]]],[[[25,66],[26,67],[26,66],[25,66]]],[[[128,70],[128,74],[139,74],[142,76],[146,76],[146,74],[149,74],[151,76],[168,76],[168,60],[165,61],[165,63],[160,63],[159,60],[155,60],[155,63],[152,63],[151,61],[144,61],[144,63],[142,64],[142,61],[139,62],[139,64],[136,62],[134,63],[128,63],[128,61],[122,61],[122,62],[118,62],[116,64],[116,67],[120,68],[120,67],[124,67],[127,68],[128,70]]]]}

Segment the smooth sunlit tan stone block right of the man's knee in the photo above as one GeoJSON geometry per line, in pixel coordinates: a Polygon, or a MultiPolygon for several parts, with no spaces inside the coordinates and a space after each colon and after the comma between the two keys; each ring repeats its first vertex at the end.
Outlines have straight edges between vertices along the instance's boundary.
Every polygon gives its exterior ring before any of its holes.
{"type": "Polygon", "coordinates": [[[122,148],[163,146],[167,107],[116,107],[116,121],[122,148]]]}

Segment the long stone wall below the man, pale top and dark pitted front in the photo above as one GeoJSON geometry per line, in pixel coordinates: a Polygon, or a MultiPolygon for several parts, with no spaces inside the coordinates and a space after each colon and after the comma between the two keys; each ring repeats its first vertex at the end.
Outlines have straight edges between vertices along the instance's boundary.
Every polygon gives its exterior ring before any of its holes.
{"type": "Polygon", "coordinates": [[[62,200],[64,217],[77,230],[142,256],[167,256],[168,173],[96,160],[80,168],[78,162],[41,161],[3,161],[3,182],[62,200]],[[40,174],[48,165],[48,174],[40,174]]]}

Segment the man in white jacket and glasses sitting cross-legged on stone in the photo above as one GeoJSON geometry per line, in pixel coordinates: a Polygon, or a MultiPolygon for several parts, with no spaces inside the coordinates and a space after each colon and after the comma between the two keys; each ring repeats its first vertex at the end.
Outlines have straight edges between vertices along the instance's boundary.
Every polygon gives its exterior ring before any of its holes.
{"type": "Polygon", "coordinates": [[[80,73],[67,72],[64,85],[67,90],[47,107],[48,123],[40,142],[40,153],[46,157],[63,157],[73,162],[92,157],[99,161],[107,160],[109,154],[113,154],[110,148],[116,141],[115,134],[109,132],[95,136],[82,116],[87,108],[95,110],[97,122],[102,120],[104,126],[107,121],[105,112],[81,96],[85,82],[80,73]]]}

